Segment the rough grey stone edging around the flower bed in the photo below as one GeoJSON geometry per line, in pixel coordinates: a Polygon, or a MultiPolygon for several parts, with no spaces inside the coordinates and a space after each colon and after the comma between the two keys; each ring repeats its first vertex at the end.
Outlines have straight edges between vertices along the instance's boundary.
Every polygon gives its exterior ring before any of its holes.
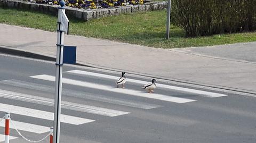
{"type": "MultiPolygon", "coordinates": [[[[47,5],[47,4],[36,4],[25,1],[18,0],[0,0],[0,6],[17,8],[17,9],[26,9],[31,11],[40,11],[43,13],[50,13],[57,15],[59,5],[47,5]]],[[[135,13],[143,11],[154,11],[162,10],[167,7],[167,2],[149,2],[143,5],[127,5],[127,6],[118,6],[109,9],[93,9],[93,10],[84,10],[77,9],[73,7],[66,7],[66,14],[71,17],[82,19],[85,21],[91,19],[99,19],[112,15],[119,15],[124,13],[135,13]]]]}

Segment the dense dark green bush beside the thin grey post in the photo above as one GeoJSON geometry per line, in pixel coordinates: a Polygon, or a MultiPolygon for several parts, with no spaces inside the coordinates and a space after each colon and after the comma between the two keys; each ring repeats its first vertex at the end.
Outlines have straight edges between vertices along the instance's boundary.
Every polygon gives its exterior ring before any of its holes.
{"type": "Polygon", "coordinates": [[[187,37],[256,30],[256,0],[172,0],[171,22],[187,37]]]}

